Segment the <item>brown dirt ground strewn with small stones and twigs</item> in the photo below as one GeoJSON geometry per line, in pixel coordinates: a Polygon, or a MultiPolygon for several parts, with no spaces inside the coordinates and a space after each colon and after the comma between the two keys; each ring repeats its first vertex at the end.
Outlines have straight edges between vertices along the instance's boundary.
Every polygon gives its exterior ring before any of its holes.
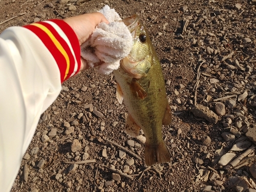
{"type": "MultiPolygon", "coordinates": [[[[253,76],[256,74],[255,1],[0,0],[0,32],[10,26],[94,12],[104,5],[114,8],[122,18],[140,15],[150,33],[174,113],[173,122],[162,130],[172,161],[145,170],[144,144],[124,133],[127,111],[116,99],[114,75],[102,76],[90,69],[63,83],[59,97],[42,114],[11,191],[239,191],[238,182],[230,181],[231,177],[247,178],[249,184],[240,191],[254,188],[255,178],[248,164],[240,169],[225,169],[217,163],[220,159],[217,153],[222,148],[228,152],[234,144],[221,135],[232,129],[240,134],[234,134],[236,139],[245,138],[254,146],[253,140],[245,137],[247,130],[236,126],[236,122],[239,118],[243,125],[248,122],[248,130],[255,123],[255,106],[250,102],[256,92],[256,76],[253,76]],[[246,18],[249,20],[243,20],[246,18]],[[183,31],[184,19],[188,26],[183,31]],[[224,56],[228,56],[227,59],[224,56]],[[238,59],[241,68],[233,64],[234,59],[238,59]],[[203,74],[197,81],[202,61],[205,61],[200,70],[203,74]],[[197,82],[199,86],[195,89],[197,82]],[[239,99],[245,91],[247,99],[239,99]],[[195,92],[197,103],[215,113],[217,101],[214,99],[235,95],[230,98],[236,101],[236,106],[230,109],[228,99],[220,100],[225,104],[225,114],[219,115],[216,124],[209,123],[189,111],[195,92]],[[95,115],[93,110],[101,112],[103,117],[95,115]],[[224,123],[229,117],[226,115],[233,115],[232,125],[229,123],[227,127],[224,123]],[[67,122],[75,127],[68,135],[65,134],[70,126],[67,122]],[[53,129],[57,132],[42,142],[42,136],[49,135],[53,129]],[[122,155],[120,148],[105,138],[126,147],[142,161],[127,152],[122,155]],[[209,142],[205,143],[203,138],[209,142]],[[82,149],[72,153],[74,139],[79,140],[82,149]],[[127,166],[131,158],[134,163],[127,166]],[[38,168],[41,160],[45,164],[38,168]],[[83,160],[95,162],[78,164],[83,160]],[[70,162],[78,164],[74,170],[70,170],[73,165],[70,162]],[[27,182],[25,165],[29,170],[27,182]],[[121,176],[121,180],[116,181],[119,179],[114,179],[113,170],[104,165],[113,165],[132,179],[121,176]],[[201,178],[207,171],[210,174],[201,178]],[[211,175],[215,172],[218,176],[213,178],[211,175]]],[[[238,156],[242,152],[234,153],[238,156]]]]}

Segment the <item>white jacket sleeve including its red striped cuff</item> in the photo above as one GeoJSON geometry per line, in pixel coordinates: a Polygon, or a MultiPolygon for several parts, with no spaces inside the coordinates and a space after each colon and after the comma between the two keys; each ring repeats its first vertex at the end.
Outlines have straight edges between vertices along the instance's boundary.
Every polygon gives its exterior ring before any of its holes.
{"type": "Polygon", "coordinates": [[[0,34],[0,186],[4,192],[11,190],[41,113],[58,96],[61,82],[80,67],[79,43],[75,35],[76,44],[71,45],[69,34],[74,32],[65,22],[36,25],[11,27],[0,34]],[[55,50],[50,50],[53,42],[55,50]],[[69,63],[63,63],[63,58],[69,63]]]}

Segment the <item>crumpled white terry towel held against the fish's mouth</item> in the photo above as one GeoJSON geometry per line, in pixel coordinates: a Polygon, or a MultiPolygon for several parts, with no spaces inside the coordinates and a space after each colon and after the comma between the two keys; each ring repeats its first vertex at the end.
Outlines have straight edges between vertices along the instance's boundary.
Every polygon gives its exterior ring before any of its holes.
{"type": "Polygon", "coordinates": [[[109,75],[120,66],[120,60],[126,57],[133,47],[133,37],[121,21],[115,9],[105,5],[101,12],[109,24],[100,23],[91,37],[81,45],[81,56],[93,68],[100,61],[100,74],[109,75]]]}

